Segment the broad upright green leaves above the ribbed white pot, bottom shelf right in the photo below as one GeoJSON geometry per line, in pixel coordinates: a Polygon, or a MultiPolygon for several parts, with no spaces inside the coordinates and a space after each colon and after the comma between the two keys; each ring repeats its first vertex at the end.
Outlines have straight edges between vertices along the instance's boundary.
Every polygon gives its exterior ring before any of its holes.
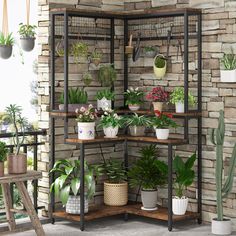
{"type": "Polygon", "coordinates": [[[184,190],[193,183],[195,172],[193,165],[196,160],[196,153],[190,156],[186,162],[183,158],[176,156],[173,161],[173,169],[176,175],[175,194],[178,198],[184,196],[184,190]]]}

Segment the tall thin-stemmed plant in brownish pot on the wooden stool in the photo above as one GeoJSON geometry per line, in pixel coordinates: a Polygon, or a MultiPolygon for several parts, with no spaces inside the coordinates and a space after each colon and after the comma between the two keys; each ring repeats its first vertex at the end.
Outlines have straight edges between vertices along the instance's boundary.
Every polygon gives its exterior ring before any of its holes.
{"type": "Polygon", "coordinates": [[[15,152],[8,155],[8,173],[9,174],[24,174],[27,172],[27,156],[25,153],[20,153],[21,145],[25,140],[25,130],[27,127],[26,118],[22,117],[22,108],[16,104],[10,104],[6,107],[6,115],[12,124],[13,143],[15,152]],[[19,133],[22,137],[19,137],[19,133]]]}

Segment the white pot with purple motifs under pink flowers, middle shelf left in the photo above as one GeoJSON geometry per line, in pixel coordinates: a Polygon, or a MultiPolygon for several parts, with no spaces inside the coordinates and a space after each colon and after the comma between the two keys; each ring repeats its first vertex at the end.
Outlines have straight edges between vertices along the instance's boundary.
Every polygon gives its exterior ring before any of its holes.
{"type": "Polygon", "coordinates": [[[95,122],[78,122],[78,138],[94,139],[95,138],[95,122]]]}

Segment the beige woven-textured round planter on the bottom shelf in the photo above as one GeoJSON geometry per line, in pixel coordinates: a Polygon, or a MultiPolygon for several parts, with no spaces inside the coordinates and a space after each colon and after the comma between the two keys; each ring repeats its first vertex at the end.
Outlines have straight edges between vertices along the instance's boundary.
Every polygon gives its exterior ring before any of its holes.
{"type": "Polygon", "coordinates": [[[128,183],[104,182],[104,203],[108,206],[124,206],[128,202],[128,183]]]}

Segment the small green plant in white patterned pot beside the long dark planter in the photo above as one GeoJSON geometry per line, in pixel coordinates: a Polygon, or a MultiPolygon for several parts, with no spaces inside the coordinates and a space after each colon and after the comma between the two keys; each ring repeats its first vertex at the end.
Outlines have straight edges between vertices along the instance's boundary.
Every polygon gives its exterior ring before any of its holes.
{"type": "Polygon", "coordinates": [[[111,109],[111,102],[115,100],[115,93],[110,89],[104,89],[97,92],[97,109],[111,109]]]}

